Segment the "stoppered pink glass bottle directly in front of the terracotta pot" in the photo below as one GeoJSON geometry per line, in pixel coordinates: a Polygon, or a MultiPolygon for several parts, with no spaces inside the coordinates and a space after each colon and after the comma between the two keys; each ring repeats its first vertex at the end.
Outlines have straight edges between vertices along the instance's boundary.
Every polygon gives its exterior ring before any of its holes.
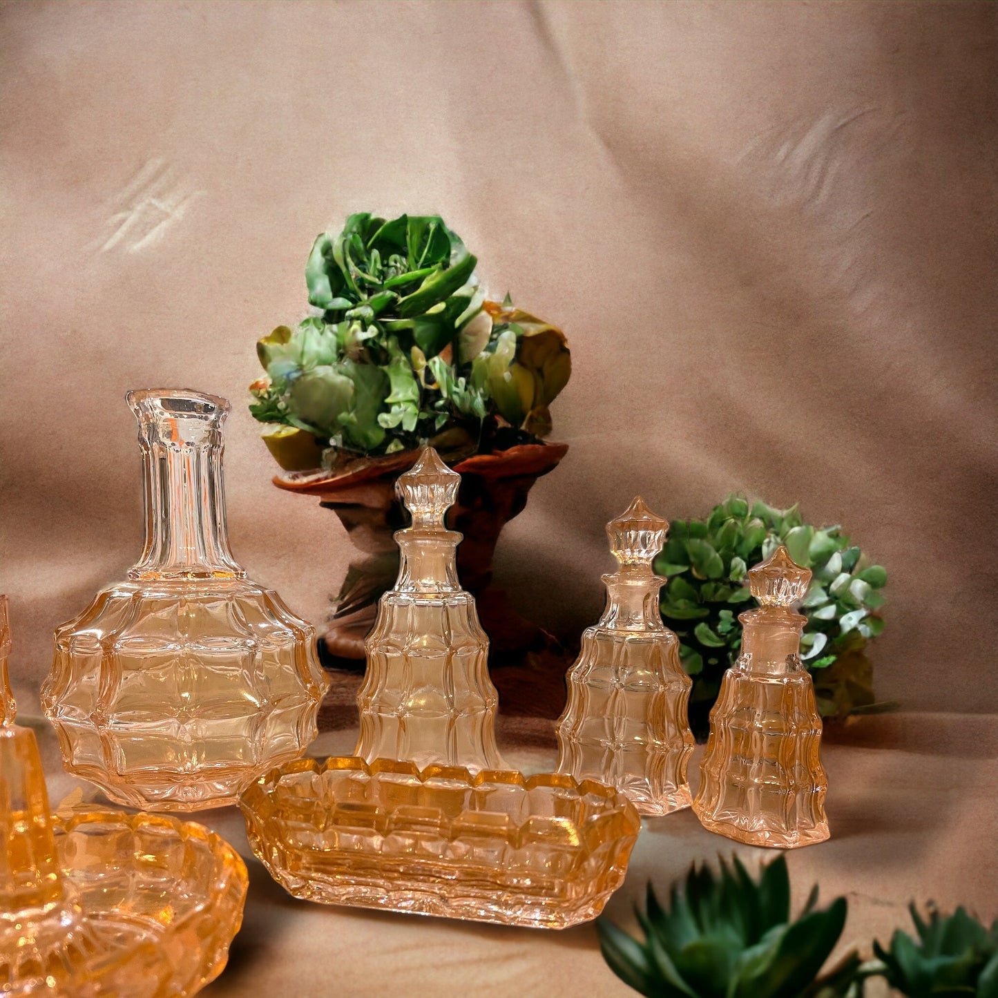
{"type": "Polygon", "coordinates": [[[500,769],[496,689],[489,640],[475,600],[457,580],[461,535],[444,526],[461,476],[432,447],[399,475],[397,489],[412,525],[395,533],[398,580],[378,604],[367,637],[367,669],[357,694],[355,753],[427,765],[500,769]]]}

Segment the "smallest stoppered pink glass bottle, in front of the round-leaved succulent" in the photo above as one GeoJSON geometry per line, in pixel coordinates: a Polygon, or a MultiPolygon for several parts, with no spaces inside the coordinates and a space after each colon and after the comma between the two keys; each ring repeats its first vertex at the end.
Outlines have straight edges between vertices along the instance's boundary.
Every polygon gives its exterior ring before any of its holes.
{"type": "Polygon", "coordinates": [[[739,617],[742,654],[711,711],[694,810],[704,827],[749,845],[792,848],[828,837],[821,719],[800,662],[806,618],[792,609],[810,577],[783,547],[749,570],[759,607],[739,617]]]}

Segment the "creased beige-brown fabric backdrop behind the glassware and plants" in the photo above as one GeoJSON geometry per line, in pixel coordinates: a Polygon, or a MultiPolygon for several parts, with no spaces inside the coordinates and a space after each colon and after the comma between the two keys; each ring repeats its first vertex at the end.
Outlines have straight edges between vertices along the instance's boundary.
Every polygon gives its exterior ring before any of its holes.
{"type": "Polygon", "coordinates": [[[269,485],[253,340],[315,234],[439,212],[569,332],[563,466],[499,576],[572,636],[603,524],[732,489],[890,571],[878,693],[994,712],[996,27],[959,3],[0,7],[4,531],[23,698],[141,546],[130,387],[234,402],[231,533],[320,621],[348,548],[269,485]]]}

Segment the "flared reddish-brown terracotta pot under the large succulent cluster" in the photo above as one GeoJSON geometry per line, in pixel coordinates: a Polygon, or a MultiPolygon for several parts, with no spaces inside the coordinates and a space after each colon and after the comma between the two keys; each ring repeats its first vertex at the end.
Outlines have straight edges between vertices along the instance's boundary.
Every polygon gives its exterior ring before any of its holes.
{"type": "MultiPolygon", "coordinates": [[[[562,658],[557,642],[518,614],[506,594],[492,586],[492,559],[502,528],[526,506],[534,482],[551,471],[567,450],[562,443],[520,444],[493,454],[475,454],[453,465],[461,475],[461,487],[447,522],[464,535],[457,549],[458,575],[478,603],[491,643],[490,665],[517,657],[522,663],[528,653],[562,658]]],[[[362,668],[363,642],[374,624],[378,597],[398,574],[392,534],[406,518],[395,496],[395,479],[415,459],[415,452],[407,451],[357,462],[336,475],[289,472],[273,479],[279,488],[318,497],[339,517],[357,549],[325,632],[323,660],[329,667],[362,668]]]]}

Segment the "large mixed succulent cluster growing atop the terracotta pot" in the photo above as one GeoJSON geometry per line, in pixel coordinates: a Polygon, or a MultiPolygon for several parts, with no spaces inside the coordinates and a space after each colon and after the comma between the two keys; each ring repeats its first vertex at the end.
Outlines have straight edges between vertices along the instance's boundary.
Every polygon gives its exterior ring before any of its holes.
{"type": "Polygon", "coordinates": [[[437,216],[351,215],[305,266],[319,314],[256,344],[250,412],[288,470],[323,451],[381,455],[448,440],[503,449],[551,429],[571,373],[565,334],[487,301],[476,258],[437,216]]]}

